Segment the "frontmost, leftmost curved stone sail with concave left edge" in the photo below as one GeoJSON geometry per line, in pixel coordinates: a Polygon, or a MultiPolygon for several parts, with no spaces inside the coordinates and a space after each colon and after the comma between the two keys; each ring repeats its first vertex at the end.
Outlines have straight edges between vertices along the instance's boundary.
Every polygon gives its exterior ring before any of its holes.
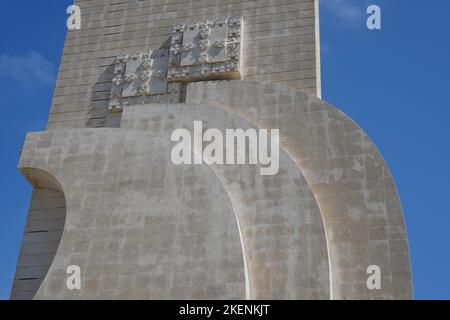
{"type": "Polygon", "coordinates": [[[55,133],[42,149],[35,146],[45,132],[30,134],[20,164],[33,183],[35,170],[59,181],[67,202],[61,243],[35,298],[245,298],[236,217],[211,169],[173,165],[170,140],[144,132],[55,133]],[[35,162],[55,148],[60,161],[35,162]],[[67,289],[69,265],[80,266],[82,290],[67,289]]]}

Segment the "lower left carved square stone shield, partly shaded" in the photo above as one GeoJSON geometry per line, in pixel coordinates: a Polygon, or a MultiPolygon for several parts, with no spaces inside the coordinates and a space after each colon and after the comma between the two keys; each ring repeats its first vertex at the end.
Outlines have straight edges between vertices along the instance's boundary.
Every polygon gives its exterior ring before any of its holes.
{"type": "Polygon", "coordinates": [[[181,83],[167,82],[168,49],[117,56],[108,111],[121,112],[124,105],[179,102],[181,83]]]}

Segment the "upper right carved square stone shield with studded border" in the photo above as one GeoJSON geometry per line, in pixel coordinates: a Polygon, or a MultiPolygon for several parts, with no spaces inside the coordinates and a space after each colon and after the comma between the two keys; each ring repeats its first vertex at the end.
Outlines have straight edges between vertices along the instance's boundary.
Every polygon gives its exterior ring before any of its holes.
{"type": "Polygon", "coordinates": [[[173,27],[168,81],[240,79],[242,18],[173,27]]]}

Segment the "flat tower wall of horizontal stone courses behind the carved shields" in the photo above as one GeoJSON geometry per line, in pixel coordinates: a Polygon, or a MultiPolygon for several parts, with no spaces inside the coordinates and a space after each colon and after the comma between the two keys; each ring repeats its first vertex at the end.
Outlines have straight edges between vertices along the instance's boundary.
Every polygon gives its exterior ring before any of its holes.
{"type": "MultiPolygon", "coordinates": [[[[115,57],[168,48],[174,25],[221,18],[244,20],[242,79],[284,83],[320,96],[315,1],[76,0],[82,26],[68,32],[48,128],[117,124],[108,112],[115,57]]],[[[148,95],[138,103],[173,102],[165,99],[148,95]]]]}

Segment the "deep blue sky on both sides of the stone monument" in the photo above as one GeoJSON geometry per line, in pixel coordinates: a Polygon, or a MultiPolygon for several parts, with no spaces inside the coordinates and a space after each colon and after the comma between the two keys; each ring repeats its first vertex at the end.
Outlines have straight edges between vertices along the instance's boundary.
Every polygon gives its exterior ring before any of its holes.
{"type": "MultiPolygon", "coordinates": [[[[369,134],[392,170],[415,297],[450,299],[450,1],[320,1],[323,99],[369,134]],[[365,26],[369,4],[381,7],[379,31],[365,26]]],[[[19,152],[26,132],[45,128],[70,3],[0,3],[0,299],[9,297],[31,196],[19,152]]]]}

